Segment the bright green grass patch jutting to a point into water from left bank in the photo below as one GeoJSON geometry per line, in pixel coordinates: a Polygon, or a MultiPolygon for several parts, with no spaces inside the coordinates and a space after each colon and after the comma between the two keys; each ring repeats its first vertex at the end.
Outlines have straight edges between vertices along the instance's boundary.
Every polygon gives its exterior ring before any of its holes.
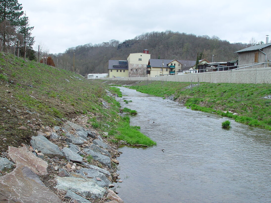
{"type": "Polygon", "coordinates": [[[115,139],[124,140],[130,145],[156,145],[156,142],[141,133],[138,130],[139,128],[139,126],[130,126],[130,118],[128,116],[122,117],[115,131],[119,131],[118,134],[115,134],[115,139]]]}

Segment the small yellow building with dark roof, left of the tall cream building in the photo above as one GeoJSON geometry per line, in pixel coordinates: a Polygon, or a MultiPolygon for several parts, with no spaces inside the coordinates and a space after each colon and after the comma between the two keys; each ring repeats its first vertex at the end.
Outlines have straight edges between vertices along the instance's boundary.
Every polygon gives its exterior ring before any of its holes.
{"type": "Polygon", "coordinates": [[[128,61],[109,60],[109,77],[128,77],[128,61]]]}

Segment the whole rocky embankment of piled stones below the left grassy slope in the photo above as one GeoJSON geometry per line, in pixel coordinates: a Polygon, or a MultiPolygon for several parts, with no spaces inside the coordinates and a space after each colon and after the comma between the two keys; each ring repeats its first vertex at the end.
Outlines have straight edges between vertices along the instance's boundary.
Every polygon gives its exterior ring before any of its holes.
{"type": "Polygon", "coordinates": [[[87,120],[61,119],[62,126],[39,129],[31,145],[2,152],[0,202],[123,202],[114,185],[122,182],[115,169],[120,152],[86,129],[87,120]]]}

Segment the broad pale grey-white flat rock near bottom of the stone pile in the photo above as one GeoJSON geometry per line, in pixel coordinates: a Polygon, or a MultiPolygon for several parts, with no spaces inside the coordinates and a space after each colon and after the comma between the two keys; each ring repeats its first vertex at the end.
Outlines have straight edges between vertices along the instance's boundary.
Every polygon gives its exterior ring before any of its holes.
{"type": "Polygon", "coordinates": [[[80,195],[83,195],[87,198],[102,198],[106,190],[96,182],[89,178],[76,178],[76,177],[59,177],[57,176],[56,179],[57,189],[62,190],[71,190],[73,192],[77,192],[80,195]]]}

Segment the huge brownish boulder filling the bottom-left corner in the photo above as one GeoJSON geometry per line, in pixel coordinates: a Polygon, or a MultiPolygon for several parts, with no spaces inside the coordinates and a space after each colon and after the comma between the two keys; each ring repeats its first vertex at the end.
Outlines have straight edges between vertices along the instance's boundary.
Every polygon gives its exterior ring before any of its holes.
{"type": "Polygon", "coordinates": [[[26,166],[0,177],[0,202],[61,203],[61,200],[26,166]]]}

